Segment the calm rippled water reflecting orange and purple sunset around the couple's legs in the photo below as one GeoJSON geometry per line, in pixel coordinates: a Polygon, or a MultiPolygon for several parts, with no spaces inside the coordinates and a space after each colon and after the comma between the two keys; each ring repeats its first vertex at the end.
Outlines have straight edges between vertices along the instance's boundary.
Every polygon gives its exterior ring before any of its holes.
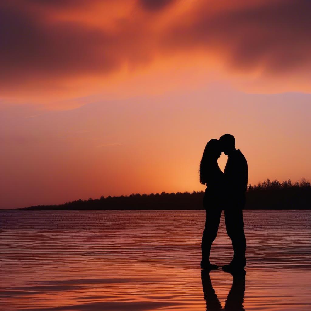
{"type": "MultiPolygon", "coordinates": [[[[204,211],[1,211],[0,216],[3,311],[225,306],[233,276],[219,269],[201,278],[204,211]]],[[[245,293],[244,278],[235,276],[225,310],[310,310],[311,211],[244,211],[244,223],[245,293]]],[[[211,261],[222,265],[231,256],[222,216],[211,261]]]]}

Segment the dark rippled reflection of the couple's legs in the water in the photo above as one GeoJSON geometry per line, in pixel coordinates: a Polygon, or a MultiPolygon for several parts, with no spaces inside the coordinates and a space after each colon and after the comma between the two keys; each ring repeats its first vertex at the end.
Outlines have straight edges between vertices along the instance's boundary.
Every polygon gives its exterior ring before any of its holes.
{"type": "Polygon", "coordinates": [[[245,311],[243,307],[244,293],[245,293],[245,270],[243,272],[232,273],[233,281],[229,291],[227,300],[225,301],[225,308],[223,309],[221,303],[213,288],[210,271],[202,270],[201,279],[206,302],[206,311],[230,310],[230,311],[245,311]]]}

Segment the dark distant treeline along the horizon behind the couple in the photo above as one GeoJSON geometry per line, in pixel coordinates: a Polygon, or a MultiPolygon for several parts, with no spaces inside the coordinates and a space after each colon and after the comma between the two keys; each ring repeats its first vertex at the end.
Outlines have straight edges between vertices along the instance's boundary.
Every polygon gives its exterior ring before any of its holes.
{"type": "MultiPolygon", "coordinates": [[[[60,205],[30,206],[29,210],[114,210],[114,209],[203,209],[203,191],[192,193],[151,193],[131,194],[129,196],[89,198],[66,202],[60,205]]],[[[291,183],[290,179],[280,183],[277,180],[265,180],[257,185],[249,184],[246,193],[245,209],[311,209],[310,183],[291,183]]]]}

